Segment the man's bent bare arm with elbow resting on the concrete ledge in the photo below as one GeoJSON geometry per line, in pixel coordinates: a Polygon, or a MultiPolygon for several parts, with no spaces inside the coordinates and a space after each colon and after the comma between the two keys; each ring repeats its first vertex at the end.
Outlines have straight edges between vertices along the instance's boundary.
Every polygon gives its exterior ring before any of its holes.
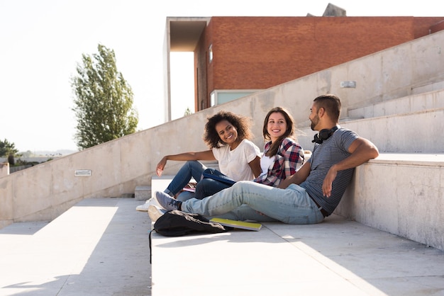
{"type": "Polygon", "coordinates": [[[345,169],[352,169],[356,166],[360,166],[370,159],[374,159],[379,155],[379,151],[376,146],[369,140],[359,137],[348,148],[348,152],[351,153],[343,161],[338,162],[338,164],[334,164],[328,170],[326,178],[323,180],[322,184],[322,192],[326,197],[330,197],[331,195],[331,186],[333,181],[338,174],[338,171],[343,171],[345,169]]]}

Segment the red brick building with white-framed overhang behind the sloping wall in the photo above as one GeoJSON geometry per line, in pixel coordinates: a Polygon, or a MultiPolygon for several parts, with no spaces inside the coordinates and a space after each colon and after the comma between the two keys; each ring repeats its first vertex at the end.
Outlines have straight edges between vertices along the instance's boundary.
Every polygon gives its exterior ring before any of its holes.
{"type": "Polygon", "coordinates": [[[444,17],[347,17],[345,11],[335,11],[331,17],[326,13],[322,17],[167,18],[166,53],[194,52],[198,111],[444,27],[444,17]]]}

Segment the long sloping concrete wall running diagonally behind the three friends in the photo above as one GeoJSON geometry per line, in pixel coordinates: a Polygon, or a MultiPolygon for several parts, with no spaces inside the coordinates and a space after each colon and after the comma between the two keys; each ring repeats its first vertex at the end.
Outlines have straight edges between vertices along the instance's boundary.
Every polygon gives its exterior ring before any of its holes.
{"type": "MultiPolygon", "coordinates": [[[[155,166],[163,155],[206,149],[201,140],[204,123],[207,116],[219,110],[231,110],[252,118],[254,142],[262,147],[262,120],[274,106],[289,108],[296,122],[307,127],[311,102],[323,93],[338,94],[343,102],[343,116],[347,116],[348,108],[407,96],[418,87],[432,87],[444,80],[443,45],[444,32],[441,31],[3,176],[0,178],[0,227],[16,221],[52,220],[82,198],[118,197],[134,193],[135,186],[150,185],[155,166]],[[356,81],[355,89],[340,87],[341,81],[349,80],[356,81]],[[91,176],[74,176],[77,170],[91,170],[91,176]]],[[[299,137],[299,142],[310,143],[303,147],[311,149],[313,132],[299,137]]],[[[377,137],[379,135],[373,133],[369,138],[376,141],[377,137]]],[[[165,174],[175,173],[180,165],[182,163],[170,161],[165,174]]]]}

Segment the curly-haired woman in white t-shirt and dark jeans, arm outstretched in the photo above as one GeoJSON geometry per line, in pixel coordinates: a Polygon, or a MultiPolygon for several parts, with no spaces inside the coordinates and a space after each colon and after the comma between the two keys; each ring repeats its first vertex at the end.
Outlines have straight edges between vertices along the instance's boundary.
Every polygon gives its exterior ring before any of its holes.
{"type": "MultiPolygon", "coordinates": [[[[228,187],[212,179],[201,179],[202,173],[207,168],[199,160],[217,160],[221,173],[234,181],[256,178],[261,172],[260,149],[250,141],[251,137],[248,118],[227,111],[213,115],[205,125],[204,142],[209,146],[209,150],[166,155],[157,164],[157,176],[162,176],[168,160],[187,161],[164,192],[174,196],[187,186],[192,178],[198,183],[196,196],[206,196],[199,194],[199,188],[205,188],[206,193],[216,193],[228,187]],[[204,182],[204,186],[199,186],[200,182],[204,182]]],[[[148,206],[149,200],[145,205],[136,207],[136,210],[147,211],[148,206]]]]}

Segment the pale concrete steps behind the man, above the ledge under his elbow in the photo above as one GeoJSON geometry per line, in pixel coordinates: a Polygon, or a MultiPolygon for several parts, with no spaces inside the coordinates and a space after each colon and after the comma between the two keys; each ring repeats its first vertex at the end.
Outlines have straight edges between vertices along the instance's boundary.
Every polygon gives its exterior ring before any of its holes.
{"type": "MultiPolygon", "coordinates": [[[[444,153],[444,137],[440,136],[444,130],[444,90],[353,108],[348,115],[340,125],[374,142],[379,152],[444,153]]],[[[314,132],[309,125],[298,129],[303,133],[298,137],[302,147],[313,147],[314,132]]]]}

